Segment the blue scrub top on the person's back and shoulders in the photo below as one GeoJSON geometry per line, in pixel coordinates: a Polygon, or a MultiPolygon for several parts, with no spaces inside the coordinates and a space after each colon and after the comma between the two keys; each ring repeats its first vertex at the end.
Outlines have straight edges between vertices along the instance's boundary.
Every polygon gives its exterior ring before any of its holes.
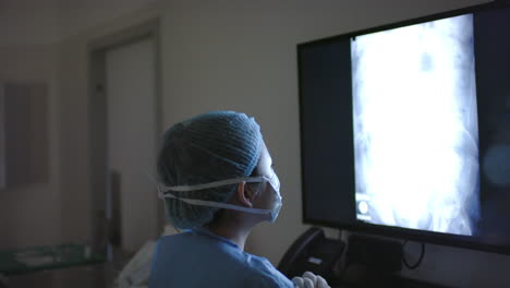
{"type": "Polygon", "coordinates": [[[248,254],[205,229],[161,237],[149,288],[290,287],[294,285],[264,257],[248,254]]]}

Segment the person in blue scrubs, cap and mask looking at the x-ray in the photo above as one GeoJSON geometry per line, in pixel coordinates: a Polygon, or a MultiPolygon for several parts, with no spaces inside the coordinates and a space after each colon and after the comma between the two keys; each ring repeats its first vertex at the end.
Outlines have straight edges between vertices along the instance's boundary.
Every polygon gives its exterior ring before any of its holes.
{"type": "Polygon", "coordinates": [[[291,281],[268,260],[244,252],[251,230],[274,223],[282,206],[253,118],[216,111],[174,124],[163,134],[157,172],[167,218],[182,232],[158,240],[150,288],[328,287],[312,273],[291,281]]]}

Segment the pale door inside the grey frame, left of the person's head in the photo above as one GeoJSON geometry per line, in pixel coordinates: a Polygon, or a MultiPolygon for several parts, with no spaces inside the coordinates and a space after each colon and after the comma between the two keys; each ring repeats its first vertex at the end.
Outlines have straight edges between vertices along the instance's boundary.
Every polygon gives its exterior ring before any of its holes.
{"type": "Polygon", "coordinates": [[[135,251],[158,235],[157,195],[147,177],[156,155],[156,64],[151,39],[106,53],[108,165],[120,175],[121,244],[135,251]]]}

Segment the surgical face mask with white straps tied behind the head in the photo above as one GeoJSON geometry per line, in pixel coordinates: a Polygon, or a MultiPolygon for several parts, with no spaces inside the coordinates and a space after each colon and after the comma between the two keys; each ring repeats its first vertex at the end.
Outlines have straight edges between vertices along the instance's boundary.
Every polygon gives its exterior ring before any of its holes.
{"type": "MultiPolygon", "coordinates": [[[[221,181],[215,181],[210,183],[205,183],[205,184],[197,184],[197,185],[179,185],[179,187],[166,187],[163,184],[158,184],[158,196],[161,200],[165,200],[166,197],[172,197],[180,200],[184,203],[191,204],[191,205],[199,205],[199,206],[209,206],[209,207],[218,207],[218,208],[226,208],[226,209],[234,209],[234,211],[240,211],[240,212],[247,212],[247,213],[253,213],[253,214],[267,214],[270,216],[269,223],[275,223],[275,220],[278,217],[278,214],[280,213],[281,206],[282,206],[282,201],[281,201],[281,195],[280,195],[280,181],[276,173],[271,171],[270,177],[265,177],[265,176],[259,176],[259,177],[242,177],[242,178],[234,178],[234,179],[228,179],[228,180],[221,180],[221,181]],[[172,194],[171,192],[190,192],[190,191],[197,191],[197,190],[204,190],[204,189],[209,189],[209,188],[215,188],[215,187],[222,187],[222,185],[230,185],[230,184],[238,184],[238,183],[263,183],[267,182],[271,185],[271,191],[274,193],[274,200],[272,200],[272,206],[269,209],[259,209],[259,208],[251,208],[251,207],[243,207],[243,206],[238,206],[238,205],[232,205],[228,203],[222,203],[222,202],[215,202],[215,201],[206,201],[206,200],[198,200],[198,199],[186,199],[186,197],[181,197],[172,194]],[[166,191],[166,192],[162,192],[166,191]]],[[[257,193],[260,193],[260,191],[257,191],[257,193]]]]}

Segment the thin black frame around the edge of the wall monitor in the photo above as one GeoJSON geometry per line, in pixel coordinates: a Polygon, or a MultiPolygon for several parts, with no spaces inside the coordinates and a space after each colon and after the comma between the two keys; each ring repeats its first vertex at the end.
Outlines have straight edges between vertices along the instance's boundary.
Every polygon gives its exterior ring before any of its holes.
{"type": "MultiPolygon", "coordinates": [[[[305,191],[306,178],[305,178],[305,168],[303,165],[304,137],[303,137],[303,121],[302,121],[302,116],[304,111],[303,111],[303,93],[302,93],[303,87],[301,84],[302,73],[303,73],[302,63],[301,63],[301,53],[303,49],[305,48],[316,46],[316,45],[323,45],[327,43],[335,43],[335,41],[345,39],[345,38],[349,39],[355,36],[364,35],[364,34],[371,34],[375,32],[381,32],[386,29],[398,28],[398,27],[413,25],[413,24],[420,24],[423,22],[429,22],[429,21],[435,21],[435,20],[445,19],[445,17],[452,17],[452,16],[458,16],[458,15],[467,14],[467,13],[489,11],[494,9],[503,9],[503,8],[509,8],[509,7],[510,7],[510,1],[508,0],[494,1],[494,2],[488,2],[484,4],[477,4],[477,5],[466,7],[466,8],[462,8],[458,10],[432,14],[427,16],[416,17],[412,20],[400,21],[400,22],[381,25],[377,27],[360,29],[360,31],[355,31],[355,32],[351,32],[347,34],[316,39],[316,40],[306,41],[306,43],[302,43],[298,45],[296,51],[298,51],[299,104],[300,104],[300,141],[301,141],[301,161],[302,161],[302,165],[301,165],[302,212],[303,212],[302,221],[304,224],[318,225],[318,226],[325,226],[325,227],[331,227],[331,228],[347,229],[347,230],[357,231],[357,232],[366,232],[366,233],[374,233],[374,235],[380,235],[380,236],[387,236],[387,237],[401,238],[401,239],[413,240],[413,241],[418,241],[418,242],[429,242],[434,244],[466,248],[466,249],[481,250],[481,251],[486,251],[486,252],[491,252],[491,253],[500,253],[500,254],[510,255],[510,245],[508,248],[503,248],[503,247],[495,245],[495,244],[486,244],[486,243],[477,242],[475,239],[469,240],[470,237],[466,237],[466,236],[456,236],[456,235],[450,235],[450,233],[432,232],[432,231],[425,231],[425,230],[372,225],[372,224],[364,224],[360,221],[356,223],[355,225],[347,225],[347,224],[339,224],[339,223],[330,221],[330,220],[320,220],[320,219],[306,217],[307,213],[306,213],[305,203],[306,203],[307,194],[305,191]]],[[[354,155],[352,155],[352,157],[354,158],[354,155]]],[[[353,203],[353,205],[355,205],[355,203],[353,203]]]]}

